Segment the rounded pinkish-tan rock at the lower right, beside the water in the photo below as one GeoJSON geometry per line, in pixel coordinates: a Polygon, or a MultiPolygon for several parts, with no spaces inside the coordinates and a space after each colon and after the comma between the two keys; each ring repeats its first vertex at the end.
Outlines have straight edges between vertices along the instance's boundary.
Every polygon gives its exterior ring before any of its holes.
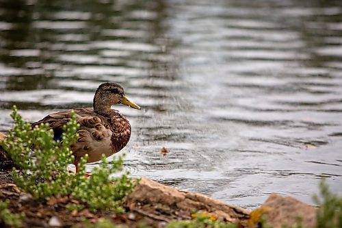
{"type": "Polygon", "coordinates": [[[302,217],[303,227],[316,225],[317,208],[293,197],[282,197],[280,194],[272,193],[261,208],[267,208],[267,224],[273,225],[274,228],[281,228],[283,224],[291,227],[295,225],[298,216],[302,217]]]}

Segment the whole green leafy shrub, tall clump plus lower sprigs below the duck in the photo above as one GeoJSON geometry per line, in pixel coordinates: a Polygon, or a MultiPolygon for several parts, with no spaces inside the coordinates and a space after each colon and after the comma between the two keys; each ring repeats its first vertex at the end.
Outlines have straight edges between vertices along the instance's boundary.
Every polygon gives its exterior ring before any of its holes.
{"type": "Polygon", "coordinates": [[[72,196],[92,211],[106,209],[122,212],[119,205],[136,183],[127,177],[128,173],[110,177],[112,173],[122,170],[122,156],[118,160],[113,159],[111,166],[103,156],[100,167],[94,168],[90,178],[86,178],[86,155],[79,162],[79,172],[70,175],[66,169],[74,161],[70,145],[77,140],[79,128],[75,113],[72,112],[70,121],[64,125],[60,142],[53,140],[53,130],[49,125],[32,129],[18,114],[16,106],[12,110],[15,125],[3,141],[3,148],[22,171],[19,173],[14,169],[12,172],[17,186],[33,194],[36,199],[72,196]]]}

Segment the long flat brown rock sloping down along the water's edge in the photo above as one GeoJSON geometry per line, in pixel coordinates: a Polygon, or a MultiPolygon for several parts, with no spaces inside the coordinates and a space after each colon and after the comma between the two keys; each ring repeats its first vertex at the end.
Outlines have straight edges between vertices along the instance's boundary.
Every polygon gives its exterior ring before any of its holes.
{"type": "Polygon", "coordinates": [[[246,225],[250,211],[211,199],[204,194],[183,192],[164,186],[148,178],[142,178],[135,190],[126,199],[131,209],[142,205],[163,205],[174,211],[201,210],[231,223],[246,225]]]}

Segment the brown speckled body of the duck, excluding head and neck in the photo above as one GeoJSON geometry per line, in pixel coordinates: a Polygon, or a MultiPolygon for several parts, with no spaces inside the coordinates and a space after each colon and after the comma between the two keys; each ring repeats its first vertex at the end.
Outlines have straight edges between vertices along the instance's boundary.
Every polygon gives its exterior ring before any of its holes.
{"type": "MultiPolygon", "coordinates": [[[[55,134],[60,134],[63,125],[70,121],[70,113],[71,110],[49,114],[34,125],[49,123],[55,134]]],[[[88,153],[88,162],[96,162],[101,160],[102,154],[108,157],[129,142],[131,125],[119,112],[114,111],[110,117],[105,117],[90,108],[77,108],[75,115],[77,123],[81,125],[77,131],[79,139],[71,147],[76,160],[88,153]]]]}

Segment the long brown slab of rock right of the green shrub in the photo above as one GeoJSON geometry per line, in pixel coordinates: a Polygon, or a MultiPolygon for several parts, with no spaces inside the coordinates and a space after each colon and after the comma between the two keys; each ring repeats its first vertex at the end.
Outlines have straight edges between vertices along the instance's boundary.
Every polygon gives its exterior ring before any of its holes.
{"type": "Polygon", "coordinates": [[[221,220],[246,225],[250,214],[249,210],[222,203],[204,194],[182,192],[147,178],[142,178],[135,191],[129,194],[126,205],[144,216],[164,221],[179,219],[180,215],[188,218],[190,211],[201,210],[221,220]]]}

